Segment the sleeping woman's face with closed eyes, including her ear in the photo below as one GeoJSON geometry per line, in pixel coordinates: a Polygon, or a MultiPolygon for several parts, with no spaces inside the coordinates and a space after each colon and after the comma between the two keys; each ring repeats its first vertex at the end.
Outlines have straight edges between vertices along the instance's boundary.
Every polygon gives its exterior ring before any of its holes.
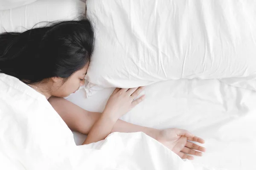
{"type": "Polygon", "coordinates": [[[57,97],[67,97],[72,93],[75,93],[80,86],[84,85],[84,77],[85,74],[87,73],[87,69],[89,67],[89,62],[84,66],[79,71],[76,71],[72,76],[70,76],[69,79],[67,79],[66,82],[63,81],[64,79],[62,78],[57,78],[54,81],[54,87],[52,91],[52,96],[57,96],[57,97]]]}

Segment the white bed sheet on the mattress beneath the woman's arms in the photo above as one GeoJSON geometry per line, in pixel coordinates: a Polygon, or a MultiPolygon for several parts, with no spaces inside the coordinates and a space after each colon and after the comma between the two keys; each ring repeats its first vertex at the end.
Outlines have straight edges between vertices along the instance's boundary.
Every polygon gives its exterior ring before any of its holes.
{"type": "MultiPolygon", "coordinates": [[[[88,111],[101,112],[114,88],[90,98],[84,89],[68,100],[88,111]]],[[[122,117],[137,125],[184,128],[206,140],[207,152],[195,164],[227,170],[256,169],[256,92],[217,79],[180,79],[145,88],[146,99],[122,117]]],[[[85,136],[74,133],[76,144],[85,136]]]]}

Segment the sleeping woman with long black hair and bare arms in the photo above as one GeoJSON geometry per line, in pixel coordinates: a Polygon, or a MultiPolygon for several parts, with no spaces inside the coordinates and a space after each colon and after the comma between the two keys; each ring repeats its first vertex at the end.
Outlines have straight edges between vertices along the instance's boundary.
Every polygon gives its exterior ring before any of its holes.
{"type": "MultiPolygon", "coordinates": [[[[19,89],[26,96],[23,102],[33,95],[44,96],[44,100],[52,105],[52,113],[57,112],[70,130],[87,135],[83,144],[98,142],[113,132],[144,132],[183,159],[202,156],[205,148],[194,142],[204,143],[204,140],[187,130],[158,130],[119,120],[120,116],[143,102],[145,96],[136,99],[143,87],[116,88],[102,113],[86,111],[63,98],[84,85],[93,45],[93,27],[87,19],[50,23],[23,33],[2,33],[0,80],[19,89]],[[16,80],[17,83],[12,85],[16,80]]],[[[5,94],[12,98],[12,93],[6,91],[0,89],[0,97],[5,94]]],[[[45,102],[42,101],[41,105],[45,102]]]]}

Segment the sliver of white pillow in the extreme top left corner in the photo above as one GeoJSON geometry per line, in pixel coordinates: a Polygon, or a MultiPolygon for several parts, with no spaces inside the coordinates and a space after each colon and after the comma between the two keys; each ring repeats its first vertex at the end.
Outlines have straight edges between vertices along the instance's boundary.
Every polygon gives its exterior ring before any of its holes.
{"type": "Polygon", "coordinates": [[[35,1],[36,0],[0,0],[0,10],[17,8],[35,1]]]}

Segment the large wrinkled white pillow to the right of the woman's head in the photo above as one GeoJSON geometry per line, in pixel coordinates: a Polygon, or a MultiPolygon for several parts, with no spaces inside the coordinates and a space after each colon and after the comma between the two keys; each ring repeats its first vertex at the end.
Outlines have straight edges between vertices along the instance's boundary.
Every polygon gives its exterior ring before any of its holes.
{"type": "Polygon", "coordinates": [[[256,77],[256,1],[87,0],[96,48],[86,79],[132,88],[256,77]]]}

